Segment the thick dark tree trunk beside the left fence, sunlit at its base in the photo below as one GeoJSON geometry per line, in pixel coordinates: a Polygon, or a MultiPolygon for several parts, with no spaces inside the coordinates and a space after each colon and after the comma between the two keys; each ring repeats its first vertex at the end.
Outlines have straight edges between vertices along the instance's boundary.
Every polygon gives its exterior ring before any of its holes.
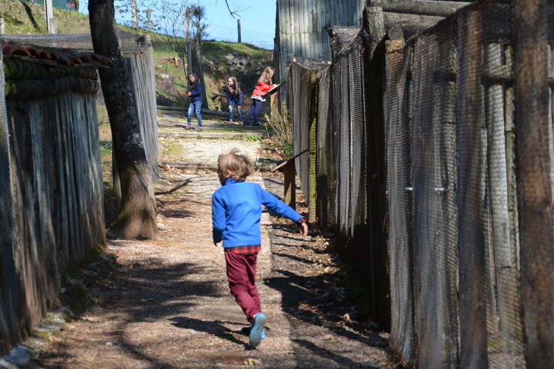
{"type": "Polygon", "coordinates": [[[123,240],[156,239],[159,231],[154,188],[116,37],[114,0],[91,0],[89,15],[94,52],[113,62],[109,69],[100,69],[100,81],[121,182],[121,206],[107,236],[123,240]]]}

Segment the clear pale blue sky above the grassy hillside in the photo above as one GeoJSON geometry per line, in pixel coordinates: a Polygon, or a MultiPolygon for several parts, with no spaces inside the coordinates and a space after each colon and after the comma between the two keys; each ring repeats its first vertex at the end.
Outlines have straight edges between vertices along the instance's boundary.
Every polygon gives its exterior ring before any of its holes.
{"type": "MultiPolygon", "coordinates": [[[[116,6],[121,1],[116,0],[116,6]]],[[[154,0],[142,0],[145,6],[151,5],[154,12],[152,21],[157,15],[154,0]]],[[[273,48],[275,37],[275,12],[276,0],[228,0],[229,8],[236,12],[235,18],[231,17],[225,0],[199,0],[197,3],[206,8],[206,39],[216,41],[237,42],[238,22],[240,19],[241,39],[243,43],[255,44],[256,46],[273,48]]],[[[87,0],[80,1],[80,12],[87,14],[87,0]]],[[[139,5],[140,6],[140,5],[139,5]]],[[[141,9],[145,10],[147,8],[141,9]]],[[[119,15],[116,13],[116,21],[129,22],[130,14],[119,15]]]]}

